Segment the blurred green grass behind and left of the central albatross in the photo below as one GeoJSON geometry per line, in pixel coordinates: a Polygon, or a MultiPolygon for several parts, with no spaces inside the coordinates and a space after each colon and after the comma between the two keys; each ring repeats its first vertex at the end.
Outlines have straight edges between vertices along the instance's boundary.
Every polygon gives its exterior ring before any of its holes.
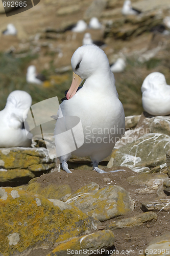
{"type": "MultiPolygon", "coordinates": [[[[33,104],[57,96],[60,99],[64,97],[65,90],[69,89],[72,72],[68,73],[68,80],[62,84],[55,83],[52,87],[43,88],[37,84],[28,84],[26,81],[27,68],[31,60],[38,55],[28,55],[24,58],[15,58],[11,54],[0,53],[0,110],[4,109],[8,95],[14,90],[23,90],[32,96],[33,104]]],[[[55,67],[51,63],[49,71],[44,70],[42,73],[47,77],[55,75],[55,67]]]]}

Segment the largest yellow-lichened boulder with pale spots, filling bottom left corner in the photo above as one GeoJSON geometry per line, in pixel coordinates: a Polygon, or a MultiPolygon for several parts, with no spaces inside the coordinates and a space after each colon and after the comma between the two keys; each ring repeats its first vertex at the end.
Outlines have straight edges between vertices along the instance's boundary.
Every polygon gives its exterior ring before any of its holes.
{"type": "Polygon", "coordinates": [[[1,187],[0,197],[2,255],[34,254],[34,249],[43,248],[44,256],[55,243],[88,234],[100,225],[78,208],[63,207],[66,204],[61,202],[61,209],[56,200],[50,202],[21,189],[1,187]]]}

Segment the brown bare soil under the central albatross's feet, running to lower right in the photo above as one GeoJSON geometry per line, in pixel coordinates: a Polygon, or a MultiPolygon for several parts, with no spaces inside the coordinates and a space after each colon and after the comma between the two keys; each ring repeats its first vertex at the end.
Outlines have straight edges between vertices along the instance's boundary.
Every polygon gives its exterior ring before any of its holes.
{"type": "MultiPolygon", "coordinates": [[[[106,172],[110,170],[114,170],[115,168],[105,168],[106,172]]],[[[121,167],[117,167],[116,169],[122,169],[121,167]]],[[[41,183],[42,187],[50,184],[68,184],[72,190],[72,193],[79,189],[80,187],[89,184],[91,182],[95,182],[99,184],[100,188],[103,188],[108,185],[118,185],[125,188],[130,194],[131,198],[135,201],[135,208],[129,214],[125,216],[115,217],[114,219],[107,220],[102,222],[103,228],[111,223],[113,220],[120,220],[124,218],[129,218],[135,216],[137,214],[141,214],[143,211],[140,206],[141,203],[145,201],[152,201],[157,198],[157,191],[154,194],[145,194],[139,195],[136,193],[136,188],[139,188],[137,185],[130,185],[126,180],[130,176],[138,175],[134,173],[131,169],[124,167],[126,172],[116,172],[116,173],[106,173],[106,174],[98,174],[94,170],[80,170],[80,169],[71,169],[72,174],[67,174],[65,171],[61,170],[61,172],[53,172],[50,174],[44,174],[39,177],[36,181],[41,183]],[[106,181],[107,180],[107,181],[106,181]]],[[[170,197],[166,197],[169,199],[170,197]]],[[[140,255],[138,250],[144,252],[144,249],[147,247],[148,243],[152,241],[155,237],[161,236],[165,232],[169,231],[169,212],[167,211],[157,211],[157,221],[153,220],[151,222],[144,223],[139,227],[132,228],[122,228],[113,230],[115,235],[115,249],[119,251],[117,255],[125,255],[121,254],[122,250],[132,250],[129,255],[140,255]],[[133,253],[133,251],[135,253],[133,253]]],[[[144,254],[144,253],[143,253],[144,254]]],[[[116,255],[116,254],[113,254],[116,255]]]]}

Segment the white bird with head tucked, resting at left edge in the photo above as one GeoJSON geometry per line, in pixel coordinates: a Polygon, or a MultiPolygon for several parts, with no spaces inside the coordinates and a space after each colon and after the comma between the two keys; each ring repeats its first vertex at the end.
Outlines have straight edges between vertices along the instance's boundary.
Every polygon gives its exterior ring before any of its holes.
{"type": "Polygon", "coordinates": [[[25,91],[16,90],[9,94],[4,110],[0,111],[0,147],[31,145],[23,125],[31,103],[32,98],[25,91]]]}

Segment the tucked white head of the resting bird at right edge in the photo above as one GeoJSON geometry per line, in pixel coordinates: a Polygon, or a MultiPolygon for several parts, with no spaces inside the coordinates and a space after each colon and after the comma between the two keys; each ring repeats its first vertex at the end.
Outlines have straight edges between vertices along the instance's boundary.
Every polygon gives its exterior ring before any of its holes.
{"type": "Polygon", "coordinates": [[[160,89],[161,86],[166,85],[165,76],[160,72],[153,72],[149,74],[143,81],[141,91],[160,89]]]}

